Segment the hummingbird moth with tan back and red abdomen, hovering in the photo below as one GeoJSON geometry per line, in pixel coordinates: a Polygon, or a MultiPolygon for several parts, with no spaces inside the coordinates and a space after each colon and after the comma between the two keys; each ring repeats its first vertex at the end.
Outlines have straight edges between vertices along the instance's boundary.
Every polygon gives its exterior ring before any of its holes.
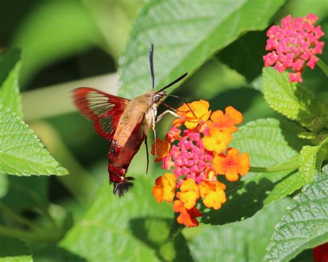
{"type": "MultiPolygon", "coordinates": [[[[81,87],[73,91],[73,101],[79,111],[89,120],[103,138],[110,141],[108,153],[109,183],[113,183],[113,193],[123,196],[131,187],[134,180],[125,176],[132,158],[145,141],[148,149],[147,133],[153,129],[156,138],[155,124],[167,113],[179,117],[174,111],[166,110],[157,116],[157,108],[166,94],[165,89],[176,84],[188,73],[181,75],[172,83],[167,84],[159,91],[154,91],[154,46],[149,48],[149,66],[152,77],[152,91],[140,95],[133,100],[109,95],[93,88],[81,87]]],[[[172,95],[173,96],[173,95],[172,95]]],[[[175,96],[174,96],[175,97],[175,96]]],[[[168,106],[172,109],[170,106],[168,106]]]]}

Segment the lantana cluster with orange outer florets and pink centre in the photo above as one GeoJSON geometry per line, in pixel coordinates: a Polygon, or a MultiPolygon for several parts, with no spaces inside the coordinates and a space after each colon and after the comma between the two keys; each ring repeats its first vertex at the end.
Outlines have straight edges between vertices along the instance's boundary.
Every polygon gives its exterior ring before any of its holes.
{"type": "Polygon", "coordinates": [[[245,176],[249,156],[228,147],[236,124],[243,120],[242,113],[228,106],[223,111],[210,111],[205,100],[183,104],[165,139],[156,139],[152,154],[162,168],[172,170],[156,179],[152,194],[158,202],[173,202],[178,212],[178,223],[188,227],[199,225],[202,216],[199,207],[219,209],[226,202],[226,185],[219,181],[234,182],[245,176]]]}

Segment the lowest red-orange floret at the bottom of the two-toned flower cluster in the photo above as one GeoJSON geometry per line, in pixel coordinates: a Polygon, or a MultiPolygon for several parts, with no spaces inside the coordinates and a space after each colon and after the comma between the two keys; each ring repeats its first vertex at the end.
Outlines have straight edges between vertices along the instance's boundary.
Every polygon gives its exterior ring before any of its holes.
{"type": "Polygon", "coordinates": [[[180,215],[176,219],[178,223],[186,225],[187,227],[197,227],[199,225],[196,217],[202,214],[196,207],[186,209],[181,200],[175,200],[173,202],[173,210],[174,212],[180,212],[180,215]]]}

